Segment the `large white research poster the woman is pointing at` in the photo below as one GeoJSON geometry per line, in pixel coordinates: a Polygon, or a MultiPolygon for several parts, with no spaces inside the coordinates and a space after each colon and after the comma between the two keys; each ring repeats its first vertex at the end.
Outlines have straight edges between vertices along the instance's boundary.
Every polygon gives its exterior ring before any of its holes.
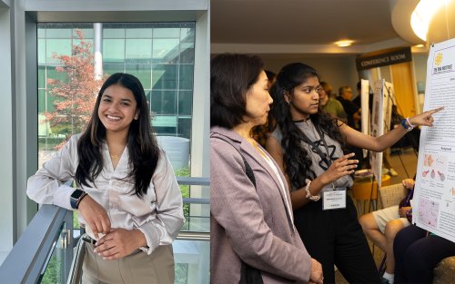
{"type": "Polygon", "coordinates": [[[423,110],[440,106],[420,132],[412,221],[455,241],[455,39],[430,47],[423,110]]]}

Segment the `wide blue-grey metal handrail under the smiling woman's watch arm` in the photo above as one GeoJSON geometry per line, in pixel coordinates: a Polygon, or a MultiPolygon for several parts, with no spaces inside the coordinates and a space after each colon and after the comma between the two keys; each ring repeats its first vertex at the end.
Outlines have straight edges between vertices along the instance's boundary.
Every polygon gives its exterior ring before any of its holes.
{"type": "Polygon", "coordinates": [[[52,250],[67,210],[43,205],[0,266],[2,283],[35,283],[52,250]]]}

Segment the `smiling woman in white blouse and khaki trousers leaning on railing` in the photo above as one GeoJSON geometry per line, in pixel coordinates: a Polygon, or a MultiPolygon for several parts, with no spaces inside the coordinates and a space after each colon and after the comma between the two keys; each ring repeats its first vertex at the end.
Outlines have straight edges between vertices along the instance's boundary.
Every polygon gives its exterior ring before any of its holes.
{"type": "Polygon", "coordinates": [[[135,76],[107,78],[86,131],[30,177],[27,194],[79,211],[87,232],[83,283],[174,283],[182,196],[135,76]],[[76,190],[65,184],[71,179],[76,190]]]}

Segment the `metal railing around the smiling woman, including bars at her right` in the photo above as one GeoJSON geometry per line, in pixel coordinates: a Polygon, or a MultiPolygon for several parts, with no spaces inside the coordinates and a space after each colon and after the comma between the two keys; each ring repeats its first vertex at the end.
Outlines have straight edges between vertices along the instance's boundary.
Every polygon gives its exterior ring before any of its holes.
{"type": "MultiPolygon", "coordinates": [[[[208,178],[177,177],[180,185],[208,186],[208,178]]],[[[186,198],[184,203],[209,204],[209,199],[186,198]]],[[[56,248],[63,256],[59,263],[66,283],[76,245],[73,231],[73,211],[45,204],[35,214],[13,249],[0,266],[0,282],[39,283],[56,248]],[[63,261],[62,261],[63,260],[63,261]]],[[[182,231],[178,240],[210,240],[209,232],[182,231]]]]}

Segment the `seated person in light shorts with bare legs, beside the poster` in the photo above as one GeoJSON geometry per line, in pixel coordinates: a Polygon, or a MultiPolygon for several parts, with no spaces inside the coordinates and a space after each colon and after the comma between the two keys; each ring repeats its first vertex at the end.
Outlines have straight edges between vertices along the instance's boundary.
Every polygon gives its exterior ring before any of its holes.
{"type": "Polygon", "coordinates": [[[360,216],[359,223],[362,230],[369,240],[387,254],[386,272],[382,276],[382,283],[393,284],[395,260],[393,258],[393,240],[399,230],[408,227],[410,220],[407,218],[407,212],[410,211],[410,200],[414,193],[414,180],[405,179],[402,181],[403,186],[410,191],[405,199],[399,202],[399,205],[373,211],[360,216]]]}

